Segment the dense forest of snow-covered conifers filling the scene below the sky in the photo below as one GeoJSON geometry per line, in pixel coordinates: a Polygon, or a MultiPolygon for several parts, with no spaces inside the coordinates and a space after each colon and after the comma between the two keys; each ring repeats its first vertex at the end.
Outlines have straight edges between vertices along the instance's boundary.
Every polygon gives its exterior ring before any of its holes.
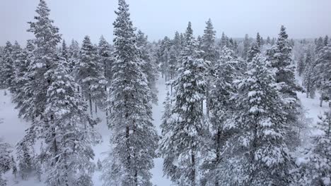
{"type": "Polygon", "coordinates": [[[281,26],[278,38],[217,39],[209,19],[202,36],[189,23],[149,42],[119,0],[113,42],[67,44],[45,0],[36,13],[33,39],[0,47],[0,88],[30,123],[16,154],[0,140],[1,186],[10,170],[51,186],[93,185],[100,112],[110,129],[97,163],[104,185],[153,185],[158,156],[174,185],[331,185],[331,110],[303,136],[311,123],[297,95],[320,93],[320,106],[331,99],[327,36],[293,40],[281,26]],[[161,137],[152,123],[159,75],[167,86],[161,137]],[[311,145],[301,149],[304,138],[311,145]]]}

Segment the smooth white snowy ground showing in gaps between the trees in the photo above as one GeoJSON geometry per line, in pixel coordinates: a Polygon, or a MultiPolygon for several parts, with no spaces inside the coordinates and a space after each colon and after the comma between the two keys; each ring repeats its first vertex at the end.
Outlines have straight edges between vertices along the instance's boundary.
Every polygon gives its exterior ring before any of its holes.
{"type": "MultiPolygon", "coordinates": [[[[301,83],[300,78],[297,78],[298,81],[301,83]]],[[[161,117],[163,115],[163,101],[165,99],[166,95],[166,86],[165,86],[165,80],[162,77],[159,77],[159,80],[157,82],[158,87],[158,105],[153,105],[153,123],[156,126],[156,130],[158,130],[158,134],[161,135],[161,117]]],[[[1,123],[1,130],[0,130],[0,137],[4,137],[4,140],[11,144],[12,147],[15,147],[17,142],[19,142],[23,135],[25,134],[25,129],[28,128],[28,123],[26,123],[21,118],[18,118],[18,111],[15,109],[15,106],[11,103],[11,96],[6,92],[5,90],[0,90],[0,118],[2,118],[3,123],[1,123]]],[[[306,109],[306,116],[307,118],[311,118],[310,127],[313,127],[315,123],[318,120],[318,116],[323,114],[324,111],[326,111],[329,106],[328,103],[323,103],[323,107],[320,107],[320,94],[316,92],[315,98],[310,99],[306,98],[306,93],[298,93],[298,97],[301,100],[301,103],[306,109]]],[[[98,124],[97,128],[100,134],[103,137],[103,142],[98,144],[94,147],[95,150],[95,163],[98,161],[98,159],[103,160],[104,158],[104,152],[108,151],[109,149],[109,135],[110,130],[108,130],[108,127],[105,123],[105,114],[104,113],[98,113],[97,115],[99,118],[102,119],[102,122],[98,124]]],[[[312,135],[313,130],[309,130],[310,134],[312,135]]],[[[307,137],[308,138],[308,137],[307,137]]],[[[14,149],[14,148],[13,148],[14,149]]],[[[39,147],[35,147],[36,150],[39,149],[39,147]]],[[[152,182],[154,185],[158,186],[169,186],[171,185],[170,180],[167,178],[163,178],[163,160],[162,159],[155,159],[155,167],[152,170],[153,178],[152,182]]],[[[100,180],[100,171],[95,171],[95,174],[93,176],[93,183],[95,186],[101,186],[102,181],[100,180]]],[[[11,172],[6,173],[4,175],[4,178],[8,180],[8,186],[11,185],[19,185],[19,186],[43,186],[45,185],[42,182],[39,182],[36,177],[31,176],[28,180],[21,180],[19,177],[14,178],[11,172]]]]}

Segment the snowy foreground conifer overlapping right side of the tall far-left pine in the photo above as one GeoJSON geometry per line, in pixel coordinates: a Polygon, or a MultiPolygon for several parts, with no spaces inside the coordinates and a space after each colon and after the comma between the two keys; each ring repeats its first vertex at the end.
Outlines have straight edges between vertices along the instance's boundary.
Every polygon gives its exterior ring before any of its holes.
{"type": "Polygon", "coordinates": [[[69,75],[64,58],[54,61],[46,74],[45,119],[40,122],[40,138],[45,139],[47,185],[93,185],[94,157],[92,144],[98,142],[96,121],[86,113],[87,105],[76,90],[79,85],[69,75]]]}

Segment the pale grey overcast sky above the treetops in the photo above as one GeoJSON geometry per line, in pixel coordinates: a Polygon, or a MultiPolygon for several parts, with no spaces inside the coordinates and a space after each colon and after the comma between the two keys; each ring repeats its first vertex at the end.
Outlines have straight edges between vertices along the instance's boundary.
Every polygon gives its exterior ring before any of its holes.
{"type": "MultiPolygon", "coordinates": [[[[0,45],[7,40],[25,43],[33,35],[26,32],[28,21],[36,15],[39,0],[0,0],[0,45]]],[[[66,40],[79,42],[89,35],[98,42],[100,35],[112,40],[112,23],[117,0],[46,0],[51,18],[66,40]]],[[[195,35],[202,35],[208,18],[217,37],[276,37],[285,25],[290,37],[313,38],[331,35],[331,0],[127,0],[134,26],[150,40],[173,37],[192,22],[195,35]]]]}

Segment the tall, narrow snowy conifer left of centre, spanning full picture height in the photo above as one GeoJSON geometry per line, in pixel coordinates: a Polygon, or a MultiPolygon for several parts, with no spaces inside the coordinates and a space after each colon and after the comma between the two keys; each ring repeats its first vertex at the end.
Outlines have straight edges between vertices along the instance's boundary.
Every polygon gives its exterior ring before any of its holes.
{"type": "Polygon", "coordinates": [[[104,185],[152,185],[158,135],[152,123],[151,89],[143,71],[129,5],[118,1],[113,23],[114,55],[108,126],[111,149],[104,161],[104,185]]]}

